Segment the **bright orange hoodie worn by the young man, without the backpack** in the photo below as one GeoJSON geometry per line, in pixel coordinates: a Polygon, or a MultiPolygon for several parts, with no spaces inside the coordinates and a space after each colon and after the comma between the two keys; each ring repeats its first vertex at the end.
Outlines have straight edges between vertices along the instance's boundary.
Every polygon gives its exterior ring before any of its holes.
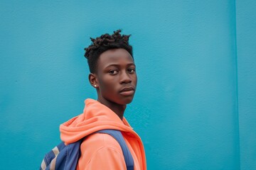
{"type": "Polygon", "coordinates": [[[134,159],[134,170],[145,170],[146,157],[139,135],[132,130],[125,118],[121,120],[110,108],[90,98],[85,100],[85,109],[81,115],[60,125],[60,138],[65,144],[89,135],[80,146],[81,156],[77,170],[126,169],[119,143],[110,135],[92,134],[105,129],[122,132],[134,159]]]}

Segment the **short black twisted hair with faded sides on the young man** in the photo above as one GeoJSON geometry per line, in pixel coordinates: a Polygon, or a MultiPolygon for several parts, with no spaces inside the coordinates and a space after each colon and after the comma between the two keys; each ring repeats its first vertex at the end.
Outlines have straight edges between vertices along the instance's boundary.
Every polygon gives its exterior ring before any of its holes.
{"type": "Polygon", "coordinates": [[[85,58],[89,65],[91,73],[95,73],[97,67],[97,60],[99,59],[102,52],[105,52],[110,49],[123,48],[127,50],[132,56],[132,46],[129,45],[129,36],[130,35],[121,35],[121,30],[116,30],[112,35],[104,34],[100,37],[92,40],[92,44],[89,47],[85,48],[85,58]]]}

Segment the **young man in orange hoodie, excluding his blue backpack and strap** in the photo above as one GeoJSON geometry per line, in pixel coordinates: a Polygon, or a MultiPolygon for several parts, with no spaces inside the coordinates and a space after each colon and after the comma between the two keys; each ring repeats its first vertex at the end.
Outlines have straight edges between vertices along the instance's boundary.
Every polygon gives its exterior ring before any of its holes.
{"type": "Polygon", "coordinates": [[[97,91],[97,101],[86,99],[83,113],[60,125],[60,137],[65,144],[87,136],[80,145],[79,170],[127,169],[117,140],[108,134],[93,133],[105,129],[121,131],[132,154],[134,169],[146,169],[142,140],[124,118],[125,108],[136,91],[137,74],[129,35],[120,32],[91,38],[92,45],[85,48],[85,57],[90,67],[90,84],[97,91]]]}

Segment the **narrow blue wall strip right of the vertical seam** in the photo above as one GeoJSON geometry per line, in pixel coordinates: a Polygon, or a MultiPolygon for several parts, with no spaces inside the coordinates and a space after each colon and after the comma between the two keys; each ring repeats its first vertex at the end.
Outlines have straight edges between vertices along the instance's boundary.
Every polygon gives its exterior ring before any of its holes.
{"type": "Polygon", "coordinates": [[[236,1],[241,169],[256,169],[256,1],[236,1]]]}

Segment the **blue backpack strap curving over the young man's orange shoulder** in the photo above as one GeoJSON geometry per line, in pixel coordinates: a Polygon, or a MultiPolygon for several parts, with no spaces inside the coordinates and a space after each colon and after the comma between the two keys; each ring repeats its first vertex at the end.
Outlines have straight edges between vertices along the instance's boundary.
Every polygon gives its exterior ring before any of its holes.
{"type": "Polygon", "coordinates": [[[129,151],[126,143],[124,142],[124,137],[119,130],[99,130],[95,133],[105,133],[114,137],[115,140],[119,143],[122,148],[122,152],[124,154],[124,161],[127,166],[127,170],[134,170],[134,160],[132,158],[132,154],[129,151]]]}

